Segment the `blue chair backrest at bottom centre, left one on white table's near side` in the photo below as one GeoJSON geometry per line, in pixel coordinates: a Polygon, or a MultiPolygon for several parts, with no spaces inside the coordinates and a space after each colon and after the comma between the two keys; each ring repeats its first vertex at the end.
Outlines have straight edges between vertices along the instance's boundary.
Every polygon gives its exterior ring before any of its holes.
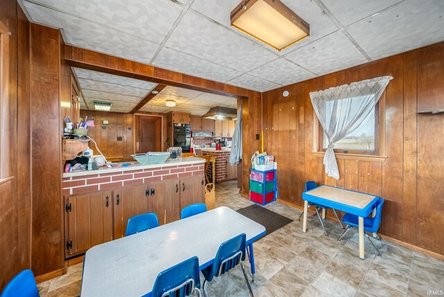
{"type": "Polygon", "coordinates": [[[200,288],[199,260],[191,257],[162,271],[155,279],[151,297],[189,296],[194,287],[200,288]]]}

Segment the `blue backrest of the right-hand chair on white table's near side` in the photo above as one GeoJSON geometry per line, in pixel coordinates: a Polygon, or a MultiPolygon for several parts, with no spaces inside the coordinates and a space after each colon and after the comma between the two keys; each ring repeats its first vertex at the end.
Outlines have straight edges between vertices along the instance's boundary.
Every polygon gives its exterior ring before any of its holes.
{"type": "Polygon", "coordinates": [[[207,277],[207,281],[211,282],[214,275],[220,276],[233,269],[240,261],[245,260],[246,253],[246,235],[242,233],[228,239],[221,246],[214,257],[212,271],[207,277]]]}

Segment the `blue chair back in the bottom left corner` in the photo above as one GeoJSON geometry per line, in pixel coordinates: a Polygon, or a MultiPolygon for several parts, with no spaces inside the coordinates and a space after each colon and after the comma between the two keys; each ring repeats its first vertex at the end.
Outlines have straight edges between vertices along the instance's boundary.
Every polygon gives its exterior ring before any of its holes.
{"type": "Polygon", "coordinates": [[[1,297],[40,297],[33,271],[26,269],[6,285],[1,297]]]}

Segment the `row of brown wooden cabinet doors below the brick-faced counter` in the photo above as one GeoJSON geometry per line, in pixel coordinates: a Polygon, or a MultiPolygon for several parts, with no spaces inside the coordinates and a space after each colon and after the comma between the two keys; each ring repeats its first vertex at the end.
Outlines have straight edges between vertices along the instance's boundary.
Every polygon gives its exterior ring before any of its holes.
{"type": "Polygon", "coordinates": [[[66,197],[65,256],[124,237],[128,219],[138,214],[155,212],[161,225],[177,221],[184,207],[205,203],[204,185],[204,176],[192,176],[66,197]]]}

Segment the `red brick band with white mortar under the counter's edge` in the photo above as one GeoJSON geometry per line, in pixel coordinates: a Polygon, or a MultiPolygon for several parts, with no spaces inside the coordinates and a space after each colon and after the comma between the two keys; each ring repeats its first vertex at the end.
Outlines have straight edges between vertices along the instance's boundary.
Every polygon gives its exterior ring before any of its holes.
{"type": "Polygon", "coordinates": [[[104,189],[118,189],[189,176],[203,176],[205,163],[164,166],[151,169],[118,171],[114,173],[99,173],[90,176],[73,176],[63,178],[63,194],[77,195],[104,189]]]}

